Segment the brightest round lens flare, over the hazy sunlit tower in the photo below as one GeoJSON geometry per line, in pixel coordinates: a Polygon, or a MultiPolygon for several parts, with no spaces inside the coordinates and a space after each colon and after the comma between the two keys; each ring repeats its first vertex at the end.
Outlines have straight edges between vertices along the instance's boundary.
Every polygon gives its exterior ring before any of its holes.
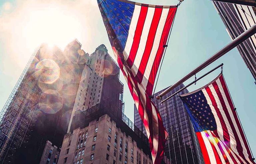
{"type": "Polygon", "coordinates": [[[52,84],[60,76],[60,67],[51,59],[43,59],[36,64],[35,75],[40,82],[52,84]]]}

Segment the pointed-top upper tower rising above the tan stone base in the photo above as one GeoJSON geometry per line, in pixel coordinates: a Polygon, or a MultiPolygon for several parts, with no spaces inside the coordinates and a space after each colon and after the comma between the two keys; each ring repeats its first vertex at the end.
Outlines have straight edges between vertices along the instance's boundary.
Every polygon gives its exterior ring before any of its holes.
{"type": "MultiPolygon", "coordinates": [[[[123,109],[123,83],[119,80],[120,69],[108,54],[104,44],[98,46],[83,69],[81,82],[70,117],[68,132],[75,113],[85,111],[96,104],[107,102],[123,109]]],[[[120,111],[120,117],[121,117],[120,111]]]]}

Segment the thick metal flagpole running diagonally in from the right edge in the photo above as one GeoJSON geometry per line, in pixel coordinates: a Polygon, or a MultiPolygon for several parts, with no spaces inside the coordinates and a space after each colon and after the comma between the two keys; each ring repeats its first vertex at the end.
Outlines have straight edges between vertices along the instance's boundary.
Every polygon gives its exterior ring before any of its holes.
{"type": "Polygon", "coordinates": [[[219,50],[217,53],[212,55],[210,58],[208,58],[205,62],[203,62],[201,65],[196,67],[194,70],[192,70],[190,73],[188,73],[186,76],[184,76],[182,79],[177,81],[175,84],[167,88],[165,91],[163,91],[161,94],[159,94],[156,98],[159,100],[161,97],[163,97],[165,94],[170,92],[172,89],[183,83],[184,81],[188,80],[190,77],[194,76],[196,73],[213,63],[215,60],[219,59],[221,56],[225,55],[227,52],[235,48],[237,45],[251,37],[256,33],[256,24],[254,24],[252,27],[250,27],[248,30],[243,32],[241,35],[236,37],[234,40],[232,40],[229,44],[227,44],[225,47],[223,47],[221,50],[219,50]]]}

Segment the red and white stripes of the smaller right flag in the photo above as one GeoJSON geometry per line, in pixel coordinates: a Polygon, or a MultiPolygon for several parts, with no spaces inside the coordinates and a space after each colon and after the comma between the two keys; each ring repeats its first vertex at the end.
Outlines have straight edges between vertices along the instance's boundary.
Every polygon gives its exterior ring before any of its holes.
{"type": "Polygon", "coordinates": [[[217,130],[197,132],[205,163],[255,164],[223,75],[202,92],[217,124],[217,130]]]}

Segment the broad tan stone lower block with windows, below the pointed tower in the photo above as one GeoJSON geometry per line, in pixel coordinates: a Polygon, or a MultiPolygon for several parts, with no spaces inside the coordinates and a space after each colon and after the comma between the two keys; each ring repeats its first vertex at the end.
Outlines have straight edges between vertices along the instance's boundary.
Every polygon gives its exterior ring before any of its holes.
{"type": "Polygon", "coordinates": [[[107,114],[64,136],[59,163],[152,164],[151,157],[137,146],[107,114]]]}

